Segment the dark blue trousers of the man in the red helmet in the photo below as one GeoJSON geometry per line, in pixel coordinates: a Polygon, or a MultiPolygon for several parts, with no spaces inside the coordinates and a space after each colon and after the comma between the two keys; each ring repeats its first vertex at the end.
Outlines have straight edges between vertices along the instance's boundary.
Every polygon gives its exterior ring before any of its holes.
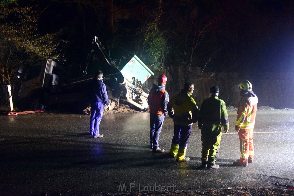
{"type": "Polygon", "coordinates": [[[150,114],[150,144],[158,148],[158,140],[163,125],[164,114],[150,114]]]}

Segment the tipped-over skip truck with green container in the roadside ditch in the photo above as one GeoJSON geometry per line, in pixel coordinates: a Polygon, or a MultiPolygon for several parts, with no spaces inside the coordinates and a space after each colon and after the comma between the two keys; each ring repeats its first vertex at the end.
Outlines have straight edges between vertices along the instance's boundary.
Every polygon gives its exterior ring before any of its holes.
{"type": "MultiPolygon", "coordinates": [[[[143,83],[154,73],[133,53],[122,48],[106,53],[95,36],[93,48],[84,65],[65,68],[52,59],[21,66],[19,108],[45,110],[50,105],[75,103],[86,108],[87,87],[97,70],[103,71],[111,106],[125,103],[138,110],[148,108],[149,90],[143,83]]],[[[81,110],[82,111],[82,110],[81,110]]]]}

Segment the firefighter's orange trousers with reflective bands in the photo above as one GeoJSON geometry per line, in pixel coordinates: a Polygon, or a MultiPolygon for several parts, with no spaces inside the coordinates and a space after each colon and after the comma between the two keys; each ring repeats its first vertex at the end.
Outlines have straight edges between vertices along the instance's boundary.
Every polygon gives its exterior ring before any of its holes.
{"type": "Polygon", "coordinates": [[[251,159],[253,161],[254,147],[253,147],[253,128],[252,129],[240,129],[240,164],[245,164],[245,161],[251,159]]]}

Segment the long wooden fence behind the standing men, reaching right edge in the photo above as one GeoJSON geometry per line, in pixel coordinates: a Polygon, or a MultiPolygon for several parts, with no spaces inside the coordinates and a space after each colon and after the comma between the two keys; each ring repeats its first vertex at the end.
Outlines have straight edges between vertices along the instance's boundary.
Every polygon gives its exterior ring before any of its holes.
{"type": "MultiPolygon", "coordinates": [[[[151,68],[152,70],[152,68],[151,68]]],[[[172,76],[166,71],[153,71],[155,73],[144,86],[152,88],[152,84],[157,84],[159,75],[167,76],[166,90],[169,96],[173,96],[183,88],[185,78],[182,68],[171,68],[173,75],[177,78],[173,80],[172,76]]],[[[258,96],[259,106],[271,106],[274,108],[294,108],[294,79],[293,73],[265,73],[258,78],[240,78],[237,73],[209,73],[206,77],[198,77],[200,68],[196,67],[190,71],[189,81],[194,83],[194,92],[192,97],[200,106],[205,98],[210,96],[209,89],[212,86],[220,88],[219,98],[223,99],[226,105],[236,107],[240,100],[240,90],[238,84],[242,80],[249,80],[253,85],[253,91],[258,96]],[[208,77],[208,76],[209,77],[208,77]]]]}

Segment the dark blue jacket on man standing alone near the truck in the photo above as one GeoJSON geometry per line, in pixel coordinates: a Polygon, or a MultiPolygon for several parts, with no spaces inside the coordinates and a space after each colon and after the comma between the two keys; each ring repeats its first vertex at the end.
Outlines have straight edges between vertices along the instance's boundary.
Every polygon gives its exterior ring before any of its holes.
{"type": "Polygon", "coordinates": [[[93,78],[88,85],[88,100],[90,102],[103,102],[109,105],[106,86],[100,78],[93,78]]]}

